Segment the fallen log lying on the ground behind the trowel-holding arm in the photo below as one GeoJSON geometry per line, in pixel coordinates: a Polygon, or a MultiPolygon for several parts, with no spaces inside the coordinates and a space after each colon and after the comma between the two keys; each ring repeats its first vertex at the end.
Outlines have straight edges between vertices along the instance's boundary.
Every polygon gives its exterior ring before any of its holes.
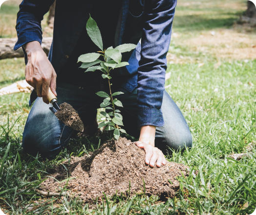
{"type": "MultiPolygon", "coordinates": [[[[13,47],[17,42],[17,38],[0,38],[0,59],[22,58],[24,53],[21,48],[14,51],[13,47]]],[[[42,49],[48,55],[52,43],[52,38],[43,38],[42,49]]]]}

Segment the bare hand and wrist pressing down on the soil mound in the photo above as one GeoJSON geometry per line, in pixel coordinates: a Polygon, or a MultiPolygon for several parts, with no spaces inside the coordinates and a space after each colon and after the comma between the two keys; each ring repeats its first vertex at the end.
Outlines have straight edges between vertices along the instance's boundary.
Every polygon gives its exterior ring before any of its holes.
{"type": "Polygon", "coordinates": [[[165,165],[167,163],[163,153],[157,147],[155,147],[155,135],[156,127],[152,125],[141,126],[139,140],[135,144],[139,148],[145,150],[145,163],[154,167],[165,165]]]}

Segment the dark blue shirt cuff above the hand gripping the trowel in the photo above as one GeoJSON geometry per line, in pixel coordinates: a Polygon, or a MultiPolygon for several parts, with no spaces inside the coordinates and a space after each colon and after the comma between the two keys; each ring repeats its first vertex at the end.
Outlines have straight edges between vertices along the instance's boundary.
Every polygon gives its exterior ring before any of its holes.
{"type": "Polygon", "coordinates": [[[19,49],[22,45],[31,42],[31,41],[39,41],[40,44],[42,44],[41,36],[38,35],[36,31],[26,31],[22,35],[19,35],[18,41],[16,42],[13,50],[16,51],[19,49]]]}

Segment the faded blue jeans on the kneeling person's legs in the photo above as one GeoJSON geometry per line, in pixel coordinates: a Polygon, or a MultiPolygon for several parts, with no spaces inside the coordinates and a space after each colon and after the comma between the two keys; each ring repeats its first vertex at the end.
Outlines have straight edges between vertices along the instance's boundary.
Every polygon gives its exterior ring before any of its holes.
{"type": "MultiPolygon", "coordinates": [[[[137,124],[137,90],[132,93],[118,89],[124,94],[119,95],[123,108],[119,108],[123,116],[124,129],[133,137],[139,137],[137,124]]],[[[93,86],[78,87],[72,84],[57,83],[58,103],[67,102],[79,113],[85,125],[93,123],[97,116],[97,108],[102,98],[95,93],[98,90],[93,86]]],[[[74,131],[65,126],[51,112],[42,98],[37,98],[28,115],[22,139],[25,152],[44,157],[53,158],[66,146],[74,131]]],[[[168,153],[170,148],[182,149],[184,146],[192,147],[192,136],[189,127],[173,99],[166,91],[163,94],[161,111],[164,126],[157,127],[155,146],[163,153],[168,153]]]]}

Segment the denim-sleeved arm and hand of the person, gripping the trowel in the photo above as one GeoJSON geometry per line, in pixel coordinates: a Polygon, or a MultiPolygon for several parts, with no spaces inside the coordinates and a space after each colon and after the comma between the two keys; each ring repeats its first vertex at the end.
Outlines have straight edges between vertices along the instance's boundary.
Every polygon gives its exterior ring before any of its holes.
{"type": "MultiPolygon", "coordinates": [[[[54,0],[23,0],[17,14],[18,41],[14,50],[22,47],[25,53],[25,78],[42,97],[45,103],[48,88],[56,95],[56,73],[46,54],[41,48],[41,20],[54,0]]],[[[57,95],[56,95],[57,96],[57,95]]]]}

